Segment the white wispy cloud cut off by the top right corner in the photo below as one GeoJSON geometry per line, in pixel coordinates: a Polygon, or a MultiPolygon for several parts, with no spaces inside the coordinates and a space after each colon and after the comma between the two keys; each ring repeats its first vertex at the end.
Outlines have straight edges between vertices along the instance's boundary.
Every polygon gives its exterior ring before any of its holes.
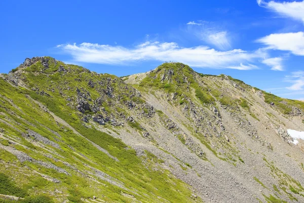
{"type": "Polygon", "coordinates": [[[257,4],[261,7],[267,8],[284,17],[290,17],[295,20],[304,22],[304,1],[302,2],[264,2],[257,0],[257,4]]]}

